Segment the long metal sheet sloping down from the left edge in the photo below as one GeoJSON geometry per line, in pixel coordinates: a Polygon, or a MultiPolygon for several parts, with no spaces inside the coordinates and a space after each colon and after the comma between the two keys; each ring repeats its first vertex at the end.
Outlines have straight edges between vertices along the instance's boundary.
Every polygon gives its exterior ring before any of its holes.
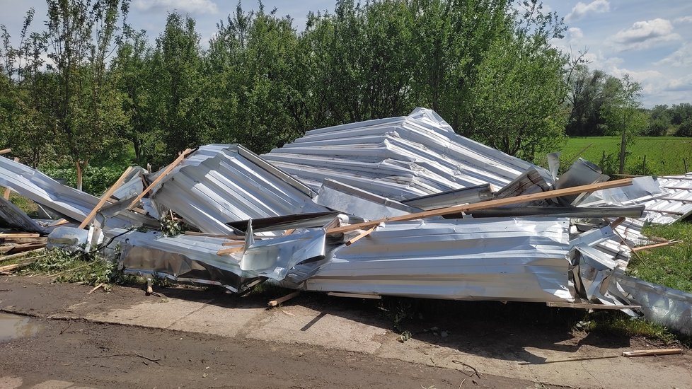
{"type": "MultiPolygon", "coordinates": [[[[0,186],[9,187],[33,202],[76,221],[83,221],[99,202],[98,197],[62,185],[38,170],[1,156],[0,186]]],[[[159,225],[155,219],[134,211],[121,212],[113,217],[98,214],[94,220],[100,226],[114,228],[159,225]]]]}

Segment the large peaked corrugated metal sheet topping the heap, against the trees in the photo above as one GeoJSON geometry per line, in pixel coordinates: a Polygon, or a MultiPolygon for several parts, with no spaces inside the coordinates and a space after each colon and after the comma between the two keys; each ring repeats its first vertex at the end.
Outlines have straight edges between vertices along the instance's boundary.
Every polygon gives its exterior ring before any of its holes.
{"type": "Polygon", "coordinates": [[[264,155],[318,190],[332,178],[391,199],[490,183],[503,187],[529,168],[547,170],[454,133],[432,110],[308,131],[264,155]]]}

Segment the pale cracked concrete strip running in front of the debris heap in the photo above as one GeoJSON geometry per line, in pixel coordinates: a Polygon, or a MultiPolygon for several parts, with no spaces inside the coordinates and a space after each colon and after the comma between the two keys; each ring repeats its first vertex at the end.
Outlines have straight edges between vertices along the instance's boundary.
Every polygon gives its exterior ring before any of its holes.
{"type": "MultiPolygon", "coordinates": [[[[488,373],[535,383],[573,388],[691,388],[689,354],[624,358],[623,351],[653,348],[647,344],[608,344],[602,339],[541,333],[511,325],[440,327],[400,342],[391,322],[350,298],[301,296],[267,308],[263,298],[161,289],[165,296],[144,296],[141,289],[116,287],[110,293],[86,294],[87,286],[50,284],[35,277],[0,279],[0,309],[55,319],[136,325],[259,339],[312,344],[325,349],[400,359],[466,373],[488,373]],[[61,296],[46,303],[42,296],[61,296]]],[[[367,306],[371,307],[371,305],[367,306]]]]}

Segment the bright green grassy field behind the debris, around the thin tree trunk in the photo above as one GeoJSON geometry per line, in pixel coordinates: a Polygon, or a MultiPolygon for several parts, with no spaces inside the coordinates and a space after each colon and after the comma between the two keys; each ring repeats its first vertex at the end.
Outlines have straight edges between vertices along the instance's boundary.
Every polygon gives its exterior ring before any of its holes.
{"type": "MultiPolygon", "coordinates": [[[[692,170],[692,138],[682,137],[638,137],[628,147],[625,173],[629,174],[681,174],[692,170]],[[646,156],[646,169],[642,165],[646,156]],[[685,169],[683,158],[687,161],[685,169]]],[[[570,138],[560,156],[563,165],[575,160],[578,156],[601,165],[603,153],[611,154],[611,163],[617,168],[617,156],[620,151],[620,137],[581,137],[570,138]]],[[[538,161],[541,161],[538,159],[538,161]]],[[[568,166],[563,166],[567,168],[568,166]]],[[[602,166],[607,170],[606,166],[602,166]]]]}

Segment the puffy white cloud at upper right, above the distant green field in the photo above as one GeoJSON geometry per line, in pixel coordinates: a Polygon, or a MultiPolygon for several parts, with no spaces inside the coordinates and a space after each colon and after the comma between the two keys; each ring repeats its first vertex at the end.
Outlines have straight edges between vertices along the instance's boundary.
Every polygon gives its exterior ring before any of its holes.
{"type": "Polygon", "coordinates": [[[673,33],[673,24],[667,19],[656,18],[650,21],[633,23],[632,27],[620,30],[613,36],[616,50],[642,50],[661,42],[680,39],[673,33]]]}

